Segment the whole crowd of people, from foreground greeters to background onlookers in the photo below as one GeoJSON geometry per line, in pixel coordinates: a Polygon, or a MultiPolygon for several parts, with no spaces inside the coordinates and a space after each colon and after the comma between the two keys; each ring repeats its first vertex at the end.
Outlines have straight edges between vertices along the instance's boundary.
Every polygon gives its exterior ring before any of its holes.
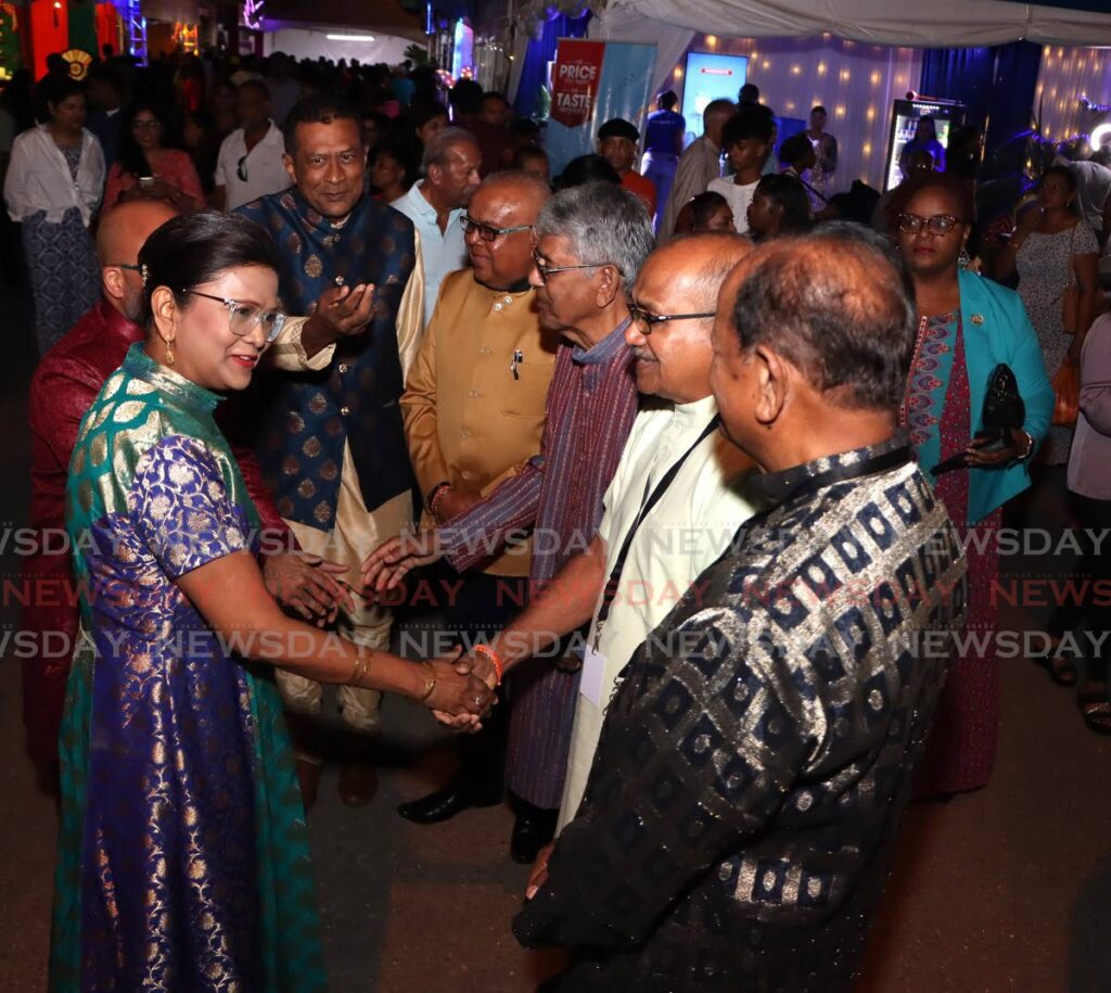
{"type": "Polygon", "coordinates": [[[408,66],[21,87],[31,523],[69,535],[26,572],[79,594],[22,620],[72,645],[23,671],[52,987],[324,989],[337,684],[344,803],[383,694],[458,732],[401,816],[509,798],[548,989],[849,989],[907,804],[991,776],[1032,482],[1092,581],[1034,661],[1111,733],[1111,172],[1099,232],[1058,165],[991,247],[929,127],[878,207],[751,84],[554,178],[504,96],[408,66]]]}

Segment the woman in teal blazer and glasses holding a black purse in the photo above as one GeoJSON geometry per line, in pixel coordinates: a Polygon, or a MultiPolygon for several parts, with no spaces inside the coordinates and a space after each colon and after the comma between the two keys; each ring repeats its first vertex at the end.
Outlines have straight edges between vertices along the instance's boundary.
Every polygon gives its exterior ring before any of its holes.
{"type": "Polygon", "coordinates": [[[973,218],[970,201],[963,184],[933,173],[908,187],[893,205],[891,225],[920,314],[903,421],[925,470],[961,453],[969,467],[937,477],[934,485],[967,540],[965,629],[975,640],[950,668],[919,795],[975,790],[991,775],[999,724],[992,588],[1001,509],[1030,485],[1030,458],[1053,412],[1053,388],[1019,295],[960,265],[973,218]],[[973,439],[982,428],[988,379],[1001,362],[1014,372],[1027,413],[1007,444],[990,451],[973,439]]]}

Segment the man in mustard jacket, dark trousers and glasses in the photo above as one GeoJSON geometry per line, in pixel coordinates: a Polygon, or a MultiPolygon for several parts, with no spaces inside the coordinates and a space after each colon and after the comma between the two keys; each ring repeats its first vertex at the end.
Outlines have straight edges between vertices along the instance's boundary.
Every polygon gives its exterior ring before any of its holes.
{"type": "MultiPolygon", "coordinates": [[[[500,173],[479,187],[463,217],[471,268],[444,279],[401,398],[428,525],[462,513],[540,451],[558,340],[540,330],[528,274],[531,229],[547,199],[548,187],[533,177],[500,173]]],[[[473,643],[520,606],[529,545],[461,576],[442,568],[450,578],[442,585],[451,590],[448,621],[473,643]]],[[[427,654],[436,654],[436,645],[427,654]]],[[[504,729],[498,718],[508,711],[494,713],[479,734],[460,741],[461,773],[446,789],[402,804],[402,816],[431,824],[501,802],[504,729]]]]}

